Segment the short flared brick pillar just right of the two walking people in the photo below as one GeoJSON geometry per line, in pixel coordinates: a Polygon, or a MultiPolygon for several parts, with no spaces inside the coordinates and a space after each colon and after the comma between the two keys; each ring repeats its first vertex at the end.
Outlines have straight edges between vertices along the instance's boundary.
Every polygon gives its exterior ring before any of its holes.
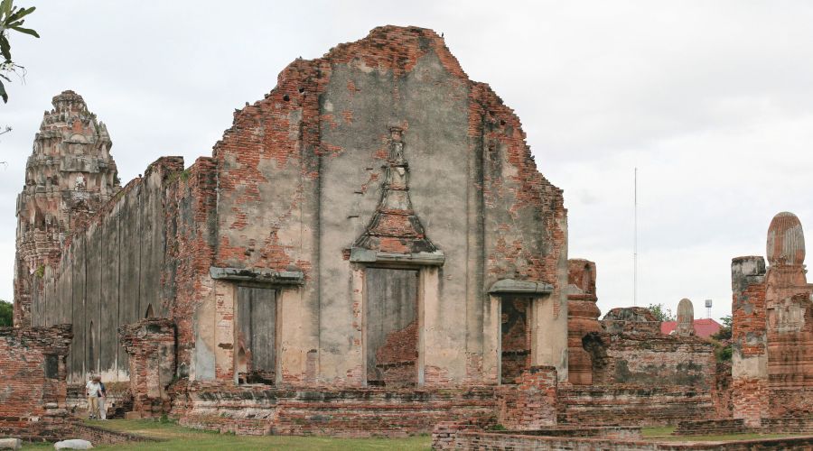
{"type": "Polygon", "coordinates": [[[167,318],[147,318],[118,328],[130,361],[133,410],[142,417],[169,411],[166,392],[175,374],[175,325],[167,318]]]}

